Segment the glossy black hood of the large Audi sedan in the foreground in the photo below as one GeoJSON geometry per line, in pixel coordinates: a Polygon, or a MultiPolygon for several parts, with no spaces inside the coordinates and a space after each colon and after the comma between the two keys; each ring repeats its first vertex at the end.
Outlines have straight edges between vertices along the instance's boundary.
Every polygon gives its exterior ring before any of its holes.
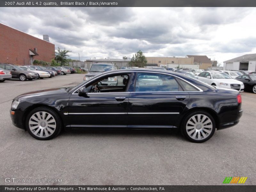
{"type": "Polygon", "coordinates": [[[53,94],[63,94],[68,93],[65,91],[65,88],[53,88],[53,89],[46,89],[46,90],[40,90],[40,91],[33,91],[28,93],[23,93],[17,97],[14,98],[14,100],[21,100],[29,97],[36,97],[36,96],[43,96],[43,95],[53,95],[53,94]]]}

